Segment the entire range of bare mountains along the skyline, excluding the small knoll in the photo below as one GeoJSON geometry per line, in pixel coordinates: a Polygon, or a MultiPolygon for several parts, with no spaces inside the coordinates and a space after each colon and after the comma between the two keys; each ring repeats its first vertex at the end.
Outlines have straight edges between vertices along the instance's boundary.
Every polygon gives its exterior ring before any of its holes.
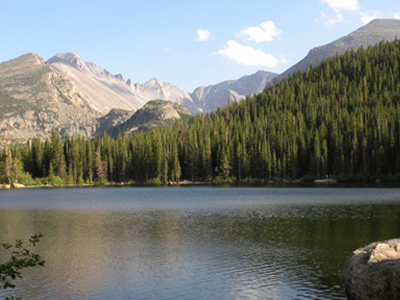
{"type": "Polygon", "coordinates": [[[398,36],[400,20],[374,20],[345,37],[312,49],[281,75],[259,71],[237,80],[198,87],[192,93],[156,78],[143,84],[133,83],[95,63],[85,62],[75,53],[57,54],[47,62],[37,54],[26,54],[0,64],[0,143],[36,136],[46,138],[53,127],[60,134],[85,136],[112,131],[115,126],[124,128],[124,122],[135,111],[156,99],[183,105],[193,114],[210,112],[228,101],[260,93],[272,80],[278,82],[305,70],[309,64],[398,36]]]}

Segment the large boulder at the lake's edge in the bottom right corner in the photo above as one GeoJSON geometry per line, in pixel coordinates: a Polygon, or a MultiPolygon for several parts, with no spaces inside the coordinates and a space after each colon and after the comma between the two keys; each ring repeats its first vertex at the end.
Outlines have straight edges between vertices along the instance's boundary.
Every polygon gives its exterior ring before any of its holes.
{"type": "Polygon", "coordinates": [[[343,270],[348,299],[400,299],[400,239],[357,249],[343,270]]]}

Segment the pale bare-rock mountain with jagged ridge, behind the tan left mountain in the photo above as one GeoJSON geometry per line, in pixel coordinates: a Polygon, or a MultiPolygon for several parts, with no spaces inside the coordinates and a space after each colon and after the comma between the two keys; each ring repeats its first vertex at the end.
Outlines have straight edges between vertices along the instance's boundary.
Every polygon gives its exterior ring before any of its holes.
{"type": "Polygon", "coordinates": [[[87,99],[91,107],[103,114],[111,109],[137,110],[150,100],[174,101],[199,112],[189,93],[159,79],[144,84],[124,80],[121,74],[113,75],[95,63],[85,62],[78,54],[60,53],[48,60],[57,71],[68,77],[87,99]]]}

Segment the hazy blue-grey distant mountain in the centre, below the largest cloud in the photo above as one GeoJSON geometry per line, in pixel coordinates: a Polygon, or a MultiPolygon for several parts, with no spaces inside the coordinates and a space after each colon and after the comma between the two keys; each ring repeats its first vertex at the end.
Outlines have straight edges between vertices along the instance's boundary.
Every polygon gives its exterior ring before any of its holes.
{"type": "Polygon", "coordinates": [[[225,106],[228,101],[243,99],[248,95],[261,93],[277,74],[258,71],[238,80],[224,81],[215,85],[196,88],[191,97],[203,111],[210,112],[225,106]]]}

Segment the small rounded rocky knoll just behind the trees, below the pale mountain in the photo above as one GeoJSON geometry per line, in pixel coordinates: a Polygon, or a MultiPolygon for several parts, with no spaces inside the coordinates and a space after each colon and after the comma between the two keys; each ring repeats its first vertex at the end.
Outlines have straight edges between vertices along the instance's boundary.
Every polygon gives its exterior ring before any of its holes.
{"type": "Polygon", "coordinates": [[[120,132],[148,131],[153,127],[172,124],[175,120],[187,119],[192,114],[184,106],[165,100],[152,100],[136,111],[126,122],[108,130],[111,136],[120,132]]]}

